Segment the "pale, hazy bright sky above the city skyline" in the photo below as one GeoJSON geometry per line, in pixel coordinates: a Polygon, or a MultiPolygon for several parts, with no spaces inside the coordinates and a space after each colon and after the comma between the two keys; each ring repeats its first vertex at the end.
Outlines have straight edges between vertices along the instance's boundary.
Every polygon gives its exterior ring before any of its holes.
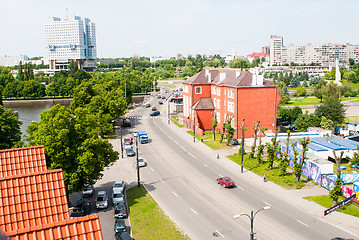
{"type": "Polygon", "coordinates": [[[359,44],[358,0],[2,0],[0,56],[45,56],[50,17],[96,24],[98,58],[260,52],[284,45],[359,44]],[[66,10],[68,9],[68,10],[66,10]]]}

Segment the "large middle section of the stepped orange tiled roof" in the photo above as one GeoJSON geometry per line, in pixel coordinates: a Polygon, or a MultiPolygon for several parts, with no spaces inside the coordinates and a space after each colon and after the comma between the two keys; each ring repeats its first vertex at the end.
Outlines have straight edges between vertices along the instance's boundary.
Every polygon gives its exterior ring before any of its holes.
{"type": "Polygon", "coordinates": [[[62,169],[0,178],[0,230],[70,218],[62,169]]]}

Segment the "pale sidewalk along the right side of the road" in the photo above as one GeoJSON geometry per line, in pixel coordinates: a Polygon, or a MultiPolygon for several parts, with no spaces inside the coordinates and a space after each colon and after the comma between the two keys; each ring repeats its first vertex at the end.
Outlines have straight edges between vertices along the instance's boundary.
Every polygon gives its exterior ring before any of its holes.
{"type": "MultiPolygon", "coordinates": [[[[186,131],[186,128],[179,128],[173,122],[170,124],[167,123],[167,120],[163,120],[164,124],[167,127],[171,128],[172,131],[175,131],[176,134],[186,141],[187,143],[193,143],[193,136],[189,135],[186,131]]],[[[253,141],[253,139],[252,139],[253,141]]],[[[251,140],[246,141],[246,144],[250,144],[251,140]]],[[[237,171],[240,172],[241,166],[232,162],[225,156],[231,155],[234,153],[238,153],[239,146],[235,146],[232,149],[224,149],[224,150],[213,150],[207,147],[204,143],[201,143],[196,139],[196,142],[193,143],[194,146],[198,150],[200,150],[203,154],[206,154],[208,158],[216,159],[216,153],[218,152],[220,155],[220,159],[222,162],[223,167],[227,169],[238,169],[237,171]]],[[[248,150],[247,150],[248,151],[248,150]]],[[[296,190],[287,190],[283,189],[282,187],[274,184],[273,182],[263,183],[262,176],[258,176],[250,171],[245,170],[244,173],[241,175],[242,178],[246,178],[251,182],[254,182],[265,191],[270,191],[277,196],[281,196],[282,199],[285,199],[286,202],[292,204],[293,206],[305,210],[307,213],[311,214],[315,218],[319,218],[319,220],[327,222],[328,224],[338,227],[359,239],[359,218],[353,217],[350,215],[346,215],[340,212],[333,212],[328,216],[324,216],[324,210],[326,208],[316,204],[315,202],[311,202],[308,200],[303,199],[306,196],[316,196],[316,195],[328,195],[328,190],[315,185],[310,188],[306,189],[296,189],[296,190]]],[[[270,179],[269,179],[270,180],[270,179]]]]}

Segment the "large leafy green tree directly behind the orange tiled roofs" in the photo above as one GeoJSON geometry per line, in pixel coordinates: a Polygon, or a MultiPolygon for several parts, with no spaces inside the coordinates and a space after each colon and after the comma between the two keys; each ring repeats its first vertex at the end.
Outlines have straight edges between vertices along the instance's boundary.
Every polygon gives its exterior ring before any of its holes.
{"type": "Polygon", "coordinates": [[[118,158],[112,145],[99,137],[100,125],[86,108],[55,105],[27,128],[29,144],[45,146],[48,168],[62,168],[68,194],[93,184],[118,158]]]}

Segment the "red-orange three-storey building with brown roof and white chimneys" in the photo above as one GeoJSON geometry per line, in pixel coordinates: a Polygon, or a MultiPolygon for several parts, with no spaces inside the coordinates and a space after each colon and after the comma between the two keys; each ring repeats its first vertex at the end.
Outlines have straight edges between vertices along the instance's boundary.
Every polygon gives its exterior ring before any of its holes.
{"type": "Polygon", "coordinates": [[[255,121],[274,131],[280,95],[277,86],[263,78],[259,69],[251,72],[203,70],[183,82],[183,121],[196,132],[211,130],[216,117],[217,132],[232,119],[234,138],[241,138],[239,123],[246,120],[245,138],[253,137],[255,121]]]}

